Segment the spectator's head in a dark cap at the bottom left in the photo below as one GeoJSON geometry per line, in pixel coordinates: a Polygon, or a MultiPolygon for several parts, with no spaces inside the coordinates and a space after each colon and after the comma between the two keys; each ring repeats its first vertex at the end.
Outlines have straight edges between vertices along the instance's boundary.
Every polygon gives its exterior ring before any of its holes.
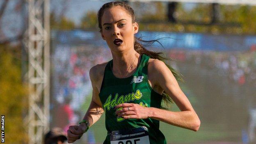
{"type": "Polygon", "coordinates": [[[51,129],[44,137],[44,144],[67,144],[66,133],[61,128],[51,129]]]}

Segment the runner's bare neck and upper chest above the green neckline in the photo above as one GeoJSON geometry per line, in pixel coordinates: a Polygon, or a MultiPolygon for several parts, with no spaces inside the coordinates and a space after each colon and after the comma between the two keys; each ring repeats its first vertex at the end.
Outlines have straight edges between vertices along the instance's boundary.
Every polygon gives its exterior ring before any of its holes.
{"type": "Polygon", "coordinates": [[[119,78],[126,78],[128,75],[136,71],[139,64],[139,53],[134,49],[126,53],[113,54],[112,72],[119,78]]]}

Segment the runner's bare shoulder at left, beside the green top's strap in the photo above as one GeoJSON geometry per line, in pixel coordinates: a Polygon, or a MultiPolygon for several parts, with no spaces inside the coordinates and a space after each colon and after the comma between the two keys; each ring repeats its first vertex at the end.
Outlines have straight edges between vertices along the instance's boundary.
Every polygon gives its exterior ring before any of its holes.
{"type": "Polygon", "coordinates": [[[95,66],[91,67],[89,72],[91,83],[97,87],[98,91],[101,89],[101,82],[103,80],[106,65],[107,62],[96,64],[95,66]]]}

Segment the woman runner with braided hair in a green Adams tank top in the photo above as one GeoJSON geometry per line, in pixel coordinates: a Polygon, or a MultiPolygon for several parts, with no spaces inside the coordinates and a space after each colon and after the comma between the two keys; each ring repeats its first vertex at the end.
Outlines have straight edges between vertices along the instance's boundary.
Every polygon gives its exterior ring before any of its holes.
{"type": "Polygon", "coordinates": [[[199,117],[177,82],[182,75],[138,43],[133,9],[125,2],[106,3],[98,11],[98,26],[113,59],[90,69],[91,104],[80,125],[67,130],[68,142],[80,139],[103,112],[103,144],[166,144],[159,121],[197,131],[199,117]],[[162,100],[173,100],[181,112],[163,109],[162,100]]]}

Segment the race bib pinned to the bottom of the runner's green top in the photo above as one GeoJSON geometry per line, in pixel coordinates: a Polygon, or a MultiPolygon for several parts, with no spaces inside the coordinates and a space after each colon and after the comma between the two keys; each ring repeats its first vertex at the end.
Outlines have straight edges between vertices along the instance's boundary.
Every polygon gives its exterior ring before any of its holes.
{"type": "Polygon", "coordinates": [[[111,132],[110,144],[149,144],[149,133],[145,126],[111,132]]]}

